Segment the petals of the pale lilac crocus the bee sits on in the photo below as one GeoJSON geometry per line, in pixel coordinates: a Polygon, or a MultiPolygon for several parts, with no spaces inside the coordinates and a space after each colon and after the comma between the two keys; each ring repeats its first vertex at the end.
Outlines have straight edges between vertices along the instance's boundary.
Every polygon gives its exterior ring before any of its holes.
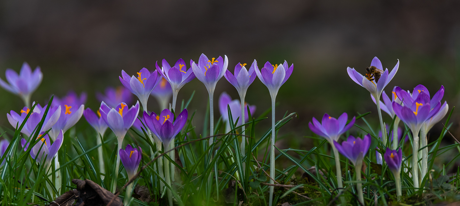
{"type": "MultiPolygon", "coordinates": [[[[371,62],[371,66],[374,66],[377,69],[380,69],[383,71],[382,63],[377,57],[374,57],[374,59],[371,62]]],[[[372,78],[361,75],[355,70],[355,68],[351,69],[350,67],[348,67],[346,70],[348,72],[348,75],[353,81],[355,81],[357,84],[361,85],[362,87],[366,88],[372,94],[372,96],[374,96],[375,99],[379,99],[380,94],[382,94],[383,92],[383,89],[393,79],[396,72],[398,71],[398,68],[399,68],[399,60],[396,63],[396,66],[393,68],[393,70],[391,70],[390,73],[388,73],[388,69],[385,69],[383,74],[381,74],[380,80],[378,80],[378,82],[375,82],[375,80],[372,80],[372,81],[369,80],[372,78]]]]}

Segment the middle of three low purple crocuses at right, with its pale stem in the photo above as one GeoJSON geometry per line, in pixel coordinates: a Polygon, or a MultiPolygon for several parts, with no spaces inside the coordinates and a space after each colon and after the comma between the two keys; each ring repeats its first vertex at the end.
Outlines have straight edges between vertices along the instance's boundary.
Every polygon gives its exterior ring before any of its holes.
{"type": "MultiPolygon", "coordinates": [[[[355,166],[356,180],[361,181],[361,169],[362,169],[362,160],[371,146],[371,135],[367,134],[364,138],[355,138],[353,136],[348,137],[348,139],[342,142],[342,145],[334,141],[334,145],[343,154],[348,160],[353,163],[355,166]]],[[[335,157],[338,158],[338,157],[335,157]]],[[[358,199],[360,202],[364,202],[362,196],[362,183],[356,183],[358,199]]]]}

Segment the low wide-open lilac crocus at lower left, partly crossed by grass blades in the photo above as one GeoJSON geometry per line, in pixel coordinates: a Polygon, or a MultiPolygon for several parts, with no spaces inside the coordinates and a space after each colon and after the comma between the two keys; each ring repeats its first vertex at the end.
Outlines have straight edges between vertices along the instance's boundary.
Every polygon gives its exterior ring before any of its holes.
{"type": "MultiPolygon", "coordinates": [[[[34,145],[32,150],[30,150],[30,156],[35,159],[37,158],[37,162],[40,162],[42,158],[46,156],[45,160],[45,168],[48,168],[48,166],[51,165],[51,161],[53,160],[54,157],[57,156],[57,151],[61,148],[62,143],[63,143],[63,131],[59,131],[56,140],[54,140],[53,143],[50,142],[50,138],[46,134],[43,136],[43,133],[37,137],[40,141],[34,145]],[[43,146],[42,146],[43,145],[43,146]],[[40,150],[41,147],[41,150],[40,150]]],[[[29,147],[29,143],[23,138],[21,139],[21,145],[24,148],[24,151],[27,150],[29,147]]]]}

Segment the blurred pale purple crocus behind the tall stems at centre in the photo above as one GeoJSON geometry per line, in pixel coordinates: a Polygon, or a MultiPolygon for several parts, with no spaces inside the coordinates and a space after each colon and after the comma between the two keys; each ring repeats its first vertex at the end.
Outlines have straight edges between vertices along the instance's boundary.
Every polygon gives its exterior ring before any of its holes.
{"type": "MultiPolygon", "coordinates": [[[[229,115],[228,115],[228,109],[227,105],[230,105],[230,111],[232,114],[232,119],[233,121],[236,121],[237,118],[241,119],[241,102],[238,99],[231,100],[230,95],[227,94],[227,92],[222,92],[222,94],[219,97],[219,111],[220,115],[222,115],[222,120],[224,122],[228,122],[229,120],[229,115]]],[[[245,108],[245,122],[249,119],[248,114],[247,114],[247,103],[244,105],[245,108]]],[[[256,111],[256,106],[255,105],[249,105],[249,111],[251,111],[251,114],[254,114],[256,111]]],[[[241,125],[241,120],[238,120],[237,126],[241,125]]]]}

